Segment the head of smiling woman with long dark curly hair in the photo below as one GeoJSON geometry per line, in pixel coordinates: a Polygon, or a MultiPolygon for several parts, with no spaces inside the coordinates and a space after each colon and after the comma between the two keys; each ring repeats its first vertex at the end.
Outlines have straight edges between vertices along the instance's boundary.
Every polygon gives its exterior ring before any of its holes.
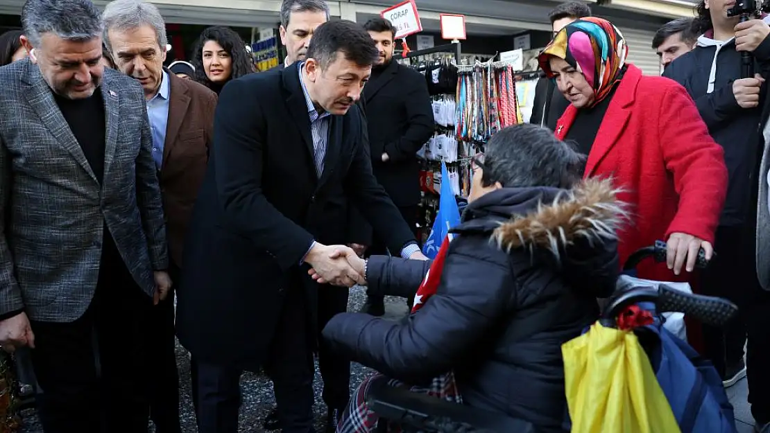
{"type": "Polygon", "coordinates": [[[226,82],[255,72],[246,42],[232,28],[203,30],[192,53],[195,80],[219,94],[226,82]]]}

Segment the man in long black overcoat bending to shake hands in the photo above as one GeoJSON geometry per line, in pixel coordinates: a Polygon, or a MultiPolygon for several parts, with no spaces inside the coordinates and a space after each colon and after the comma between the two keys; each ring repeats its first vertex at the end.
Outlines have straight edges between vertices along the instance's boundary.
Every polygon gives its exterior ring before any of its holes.
{"type": "Polygon", "coordinates": [[[316,300],[360,281],[346,261],[350,198],[391,251],[423,258],[371,172],[355,102],[377,48],[359,25],[316,29],[307,59],[248,75],[219,96],[209,168],[193,211],[177,309],[199,359],[199,431],[237,431],[239,375],[265,365],[282,430],[313,431],[316,300]]]}

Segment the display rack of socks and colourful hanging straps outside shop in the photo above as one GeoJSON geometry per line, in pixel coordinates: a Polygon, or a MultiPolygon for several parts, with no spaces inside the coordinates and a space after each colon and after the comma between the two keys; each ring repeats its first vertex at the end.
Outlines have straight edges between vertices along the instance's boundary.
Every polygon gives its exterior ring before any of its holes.
{"type": "Polygon", "coordinates": [[[425,75],[434,112],[434,135],[417,152],[422,167],[424,240],[437,214],[441,183],[450,185],[457,202],[465,202],[473,177],[471,158],[484,152],[490,135],[522,122],[517,98],[520,78],[507,62],[480,62],[477,56],[460,55],[459,44],[411,51],[399,62],[425,75]],[[458,65],[461,57],[470,65],[458,65]],[[447,176],[441,175],[442,162],[447,176]]]}

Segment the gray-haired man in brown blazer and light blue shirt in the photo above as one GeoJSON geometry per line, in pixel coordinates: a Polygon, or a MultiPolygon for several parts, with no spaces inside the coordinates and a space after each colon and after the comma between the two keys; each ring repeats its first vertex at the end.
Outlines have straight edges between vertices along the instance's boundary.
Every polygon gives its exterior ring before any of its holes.
{"type": "MultiPolygon", "coordinates": [[[[206,173],[216,93],[163,68],[168,40],[155,5],[143,0],[110,2],[104,23],[105,43],[117,68],[144,88],[169,237],[169,273],[172,281],[179,281],[192,206],[206,173]]],[[[158,433],[181,433],[172,293],[153,316],[157,332],[151,353],[156,368],[152,369],[150,418],[158,433]]]]}

